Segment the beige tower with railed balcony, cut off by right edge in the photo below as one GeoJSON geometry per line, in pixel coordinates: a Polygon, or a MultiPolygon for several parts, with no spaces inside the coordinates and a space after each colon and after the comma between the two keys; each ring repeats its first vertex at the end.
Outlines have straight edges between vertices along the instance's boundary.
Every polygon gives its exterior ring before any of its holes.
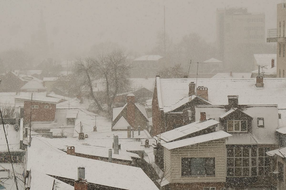
{"type": "Polygon", "coordinates": [[[277,42],[277,78],[286,77],[286,1],[277,4],[277,28],[267,30],[267,42],[277,42]]]}

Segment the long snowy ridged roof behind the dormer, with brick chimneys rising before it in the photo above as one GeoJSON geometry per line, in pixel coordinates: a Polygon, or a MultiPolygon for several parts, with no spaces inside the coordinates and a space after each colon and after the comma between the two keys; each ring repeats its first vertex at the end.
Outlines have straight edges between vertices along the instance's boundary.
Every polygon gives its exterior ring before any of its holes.
{"type": "Polygon", "coordinates": [[[156,78],[159,109],[168,112],[180,100],[188,97],[189,83],[208,88],[212,105],[227,105],[228,95],[239,95],[239,104],[278,104],[286,109],[286,78],[264,78],[263,88],[255,86],[256,79],[160,79],[156,78]]]}

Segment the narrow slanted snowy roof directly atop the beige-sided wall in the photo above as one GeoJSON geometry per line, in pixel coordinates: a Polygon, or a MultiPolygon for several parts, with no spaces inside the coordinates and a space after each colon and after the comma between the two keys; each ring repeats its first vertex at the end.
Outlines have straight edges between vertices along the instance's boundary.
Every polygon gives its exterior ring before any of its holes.
{"type": "Polygon", "coordinates": [[[162,144],[162,146],[164,146],[168,150],[172,150],[175,148],[199,144],[199,143],[208,142],[211,140],[219,140],[219,139],[227,138],[230,136],[232,136],[232,135],[227,133],[227,132],[224,132],[222,130],[219,130],[219,131],[208,133],[208,134],[203,134],[203,135],[199,135],[199,136],[195,136],[195,137],[191,137],[191,138],[177,140],[174,142],[164,143],[164,144],[162,144]]]}

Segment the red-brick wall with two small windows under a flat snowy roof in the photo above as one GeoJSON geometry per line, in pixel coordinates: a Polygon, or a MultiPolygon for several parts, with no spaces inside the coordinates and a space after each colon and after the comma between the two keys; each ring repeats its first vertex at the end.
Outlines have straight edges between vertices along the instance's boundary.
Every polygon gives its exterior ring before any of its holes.
{"type": "Polygon", "coordinates": [[[32,106],[38,106],[39,108],[33,108],[31,112],[31,101],[24,101],[24,124],[31,121],[53,121],[55,119],[55,104],[32,102],[32,106]],[[45,106],[49,106],[45,108],[45,106]]]}

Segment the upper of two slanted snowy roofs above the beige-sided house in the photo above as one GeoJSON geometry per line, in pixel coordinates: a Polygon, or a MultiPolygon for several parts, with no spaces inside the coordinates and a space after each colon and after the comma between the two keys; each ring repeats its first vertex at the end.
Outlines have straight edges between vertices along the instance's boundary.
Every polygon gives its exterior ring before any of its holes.
{"type": "Polygon", "coordinates": [[[165,142],[170,142],[178,138],[182,138],[194,132],[206,129],[210,126],[214,126],[219,122],[213,119],[208,119],[204,122],[195,121],[190,124],[175,128],[173,130],[158,134],[157,137],[163,139],[165,142]]]}

